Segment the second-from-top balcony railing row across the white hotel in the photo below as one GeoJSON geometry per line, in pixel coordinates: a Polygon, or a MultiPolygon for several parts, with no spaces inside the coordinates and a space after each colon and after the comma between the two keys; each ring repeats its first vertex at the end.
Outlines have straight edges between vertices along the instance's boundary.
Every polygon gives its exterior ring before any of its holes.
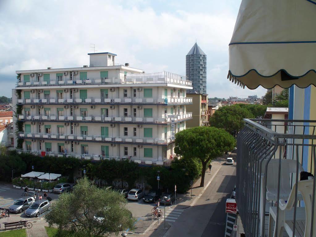
{"type": "Polygon", "coordinates": [[[191,97],[169,97],[164,98],[50,98],[50,99],[18,99],[18,104],[71,104],[71,105],[80,105],[80,104],[192,104],[191,97]]]}

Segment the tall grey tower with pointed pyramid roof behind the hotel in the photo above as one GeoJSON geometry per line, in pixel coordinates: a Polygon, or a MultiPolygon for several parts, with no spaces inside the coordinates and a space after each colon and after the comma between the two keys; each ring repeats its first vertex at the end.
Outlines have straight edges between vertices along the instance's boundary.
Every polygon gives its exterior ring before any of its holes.
{"type": "Polygon", "coordinates": [[[186,76],[193,86],[187,93],[206,94],[206,54],[195,43],[185,57],[186,76]]]}

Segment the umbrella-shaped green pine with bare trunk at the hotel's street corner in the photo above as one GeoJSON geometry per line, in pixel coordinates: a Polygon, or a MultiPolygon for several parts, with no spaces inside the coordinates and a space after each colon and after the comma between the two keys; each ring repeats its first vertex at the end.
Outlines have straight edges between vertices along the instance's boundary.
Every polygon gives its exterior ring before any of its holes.
{"type": "Polygon", "coordinates": [[[234,148],[235,139],[224,129],[194,127],[178,132],[174,151],[178,155],[199,159],[202,164],[200,186],[204,186],[206,165],[224,152],[234,148]]]}

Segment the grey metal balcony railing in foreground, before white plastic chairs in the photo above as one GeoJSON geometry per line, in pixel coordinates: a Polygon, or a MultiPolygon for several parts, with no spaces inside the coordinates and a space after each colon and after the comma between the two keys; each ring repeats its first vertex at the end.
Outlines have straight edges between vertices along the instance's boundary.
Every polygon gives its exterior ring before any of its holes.
{"type": "Polygon", "coordinates": [[[316,179],[301,179],[315,175],[316,121],[244,120],[236,202],[245,235],[316,236],[316,179]]]}

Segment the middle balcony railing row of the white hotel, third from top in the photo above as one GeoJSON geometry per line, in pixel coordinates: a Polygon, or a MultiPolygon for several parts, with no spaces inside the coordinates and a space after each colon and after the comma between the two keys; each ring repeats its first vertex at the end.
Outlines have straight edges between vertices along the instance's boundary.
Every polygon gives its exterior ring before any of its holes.
{"type": "MultiPolygon", "coordinates": [[[[168,114],[171,115],[171,114],[168,114]]],[[[78,122],[78,123],[152,123],[152,124],[168,124],[171,122],[171,119],[167,117],[106,117],[104,115],[88,115],[86,117],[78,116],[78,115],[70,115],[70,116],[58,116],[55,114],[50,115],[23,115],[18,114],[19,120],[24,121],[56,121],[56,122],[78,122]]],[[[187,112],[184,114],[173,115],[175,122],[179,122],[182,120],[187,120],[192,118],[192,112],[187,112]]]]}

